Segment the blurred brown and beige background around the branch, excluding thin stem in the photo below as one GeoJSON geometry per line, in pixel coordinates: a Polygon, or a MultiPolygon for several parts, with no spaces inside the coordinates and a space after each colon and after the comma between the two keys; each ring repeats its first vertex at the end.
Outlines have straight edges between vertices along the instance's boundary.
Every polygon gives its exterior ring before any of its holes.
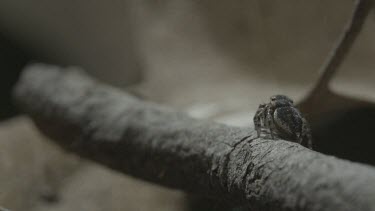
{"type": "MultiPolygon", "coordinates": [[[[10,210],[189,210],[186,195],[60,150],[25,116],[11,86],[32,61],[83,67],[139,96],[236,126],[259,103],[300,101],[352,0],[0,1],[0,206],[10,210]]],[[[330,84],[375,101],[375,22],[330,84]]],[[[309,114],[306,114],[307,116],[309,114]]],[[[340,148],[340,146],[337,146],[340,148]]]]}

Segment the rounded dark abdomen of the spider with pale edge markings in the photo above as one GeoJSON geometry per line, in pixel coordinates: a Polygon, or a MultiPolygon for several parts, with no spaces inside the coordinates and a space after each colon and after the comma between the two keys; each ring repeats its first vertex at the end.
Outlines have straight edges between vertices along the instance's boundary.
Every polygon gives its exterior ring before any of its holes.
{"type": "Polygon", "coordinates": [[[277,132],[284,138],[297,139],[302,131],[301,113],[294,107],[279,107],[273,113],[277,132]]]}

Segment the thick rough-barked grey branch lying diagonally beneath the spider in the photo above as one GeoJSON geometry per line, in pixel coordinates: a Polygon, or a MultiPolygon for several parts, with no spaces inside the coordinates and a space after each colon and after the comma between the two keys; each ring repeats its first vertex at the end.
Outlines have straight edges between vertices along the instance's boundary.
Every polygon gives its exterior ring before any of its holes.
{"type": "Polygon", "coordinates": [[[254,210],[375,210],[372,167],[192,119],[79,71],[34,65],[14,96],[62,147],[119,172],[254,210]]]}

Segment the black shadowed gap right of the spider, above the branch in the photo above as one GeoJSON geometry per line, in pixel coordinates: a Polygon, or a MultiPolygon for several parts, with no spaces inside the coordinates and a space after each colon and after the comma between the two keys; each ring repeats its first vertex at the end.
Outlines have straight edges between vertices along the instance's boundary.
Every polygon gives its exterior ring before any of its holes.
{"type": "Polygon", "coordinates": [[[375,165],[375,108],[348,110],[313,126],[315,150],[375,165]]]}

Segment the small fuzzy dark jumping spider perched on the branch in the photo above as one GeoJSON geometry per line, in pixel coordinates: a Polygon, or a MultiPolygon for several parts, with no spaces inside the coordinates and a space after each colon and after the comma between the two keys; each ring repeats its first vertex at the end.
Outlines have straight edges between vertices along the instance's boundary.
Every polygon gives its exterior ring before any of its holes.
{"type": "Polygon", "coordinates": [[[272,139],[274,133],[279,137],[302,144],[312,149],[310,127],[306,119],[293,105],[293,100],[285,95],[274,95],[271,102],[260,104],[254,116],[255,130],[258,137],[262,126],[270,131],[272,139]]]}

